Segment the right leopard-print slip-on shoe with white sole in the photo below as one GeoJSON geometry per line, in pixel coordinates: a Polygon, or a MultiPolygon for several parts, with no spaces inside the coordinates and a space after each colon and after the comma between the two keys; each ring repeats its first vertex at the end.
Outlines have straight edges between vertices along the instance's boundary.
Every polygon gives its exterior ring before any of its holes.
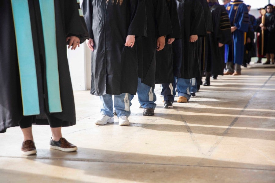
{"type": "Polygon", "coordinates": [[[77,147],[62,137],[59,139],[59,141],[54,141],[51,138],[50,149],[56,149],[64,152],[74,152],[77,150],[77,147]]]}

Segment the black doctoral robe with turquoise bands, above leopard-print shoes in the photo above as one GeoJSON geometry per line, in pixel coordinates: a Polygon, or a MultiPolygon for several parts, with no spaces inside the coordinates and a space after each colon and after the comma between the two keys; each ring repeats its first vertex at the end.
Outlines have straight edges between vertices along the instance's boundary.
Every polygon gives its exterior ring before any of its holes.
{"type": "MultiPolygon", "coordinates": [[[[62,120],[62,126],[75,124],[75,104],[67,59],[66,37],[77,36],[82,43],[86,38],[89,38],[88,31],[81,16],[81,11],[79,11],[77,0],[43,0],[43,3],[46,3],[47,7],[49,3],[52,3],[53,8],[50,11],[54,12],[52,16],[54,16],[55,20],[55,22],[50,21],[49,23],[53,26],[53,30],[55,30],[56,36],[55,38],[51,38],[56,43],[47,45],[50,40],[44,40],[44,36],[48,35],[49,32],[43,32],[42,11],[40,11],[41,4],[39,2],[41,1],[0,1],[0,24],[5,25],[0,29],[0,40],[5,43],[0,47],[0,131],[2,132],[5,132],[8,127],[17,126],[24,116],[31,114],[36,116],[37,124],[48,124],[45,113],[62,120]],[[21,6],[20,3],[23,3],[25,6],[21,6]],[[16,14],[13,11],[15,10],[14,8],[18,8],[17,10],[23,8],[21,10],[28,16],[23,17],[23,15],[16,14]],[[24,21],[15,21],[20,19],[24,21]],[[23,43],[18,42],[20,38],[24,38],[25,36],[25,34],[22,34],[18,30],[23,30],[24,32],[28,27],[30,30],[28,34],[30,35],[30,39],[23,43]],[[20,44],[23,44],[23,46],[18,47],[20,44]],[[57,68],[50,68],[49,65],[46,65],[45,48],[49,48],[49,46],[56,50],[57,68]],[[24,55],[24,53],[28,53],[25,56],[30,56],[28,50],[31,49],[33,50],[31,56],[34,58],[34,67],[25,67],[23,64],[24,68],[22,67],[21,69],[19,66],[21,61],[24,63],[28,60],[20,60],[18,56],[24,55]],[[26,94],[25,90],[28,90],[28,87],[22,89],[23,81],[25,81],[21,73],[23,69],[33,69],[36,73],[34,78],[29,78],[37,81],[33,83],[37,88],[36,95],[38,100],[38,109],[35,113],[24,111],[24,104],[32,102],[32,98],[36,98],[36,96],[33,95],[31,98],[28,98],[28,101],[23,101],[23,97],[26,94]],[[50,77],[51,70],[58,71],[56,78],[50,77]],[[48,89],[52,89],[51,87],[53,86],[48,85],[47,78],[51,78],[56,83],[59,83],[57,88],[60,93],[61,112],[50,112],[53,110],[49,109],[50,99],[48,89]],[[24,113],[27,115],[24,115],[24,113]]],[[[47,22],[47,16],[43,16],[43,18],[44,23],[47,22]]],[[[44,28],[46,27],[44,26],[44,28]]],[[[53,55],[54,53],[50,52],[50,54],[53,55]]],[[[28,73],[25,74],[28,75],[28,73]]],[[[33,91],[29,90],[29,92],[33,91]]]]}

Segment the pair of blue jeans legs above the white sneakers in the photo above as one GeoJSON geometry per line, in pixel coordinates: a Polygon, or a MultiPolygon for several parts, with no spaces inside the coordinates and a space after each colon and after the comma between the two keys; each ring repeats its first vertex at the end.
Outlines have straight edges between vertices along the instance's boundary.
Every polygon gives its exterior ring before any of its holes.
{"type": "MultiPolygon", "coordinates": [[[[107,115],[109,117],[114,117],[113,114],[113,99],[112,95],[105,94],[99,96],[101,100],[101,114],[107,115]]],[[[123,93],[120,95],[114,95],[114,108],[116,109],[117,117],[127,116],[131,114],[130,111],[130,94],[123,93]]]]}

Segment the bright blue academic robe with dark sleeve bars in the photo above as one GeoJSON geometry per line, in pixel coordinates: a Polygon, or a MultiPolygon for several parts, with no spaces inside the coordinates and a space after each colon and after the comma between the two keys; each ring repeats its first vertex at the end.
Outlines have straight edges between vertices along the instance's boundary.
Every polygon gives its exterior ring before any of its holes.
{"type": "Polygon", "coordinates": [[[225,5],[229,15],[231,26],[236,26],[237,30],[232,33],[232,44],[225,45],[225,63],[243,63],[244,58],[244,32],[248,31],[248,9],[243,1],[231,1],[225,5]]]}

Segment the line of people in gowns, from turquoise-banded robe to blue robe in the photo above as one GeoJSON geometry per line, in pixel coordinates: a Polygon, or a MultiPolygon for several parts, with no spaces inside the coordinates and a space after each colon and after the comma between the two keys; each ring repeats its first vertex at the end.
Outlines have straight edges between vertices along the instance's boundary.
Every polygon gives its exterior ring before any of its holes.
{"type": "Polygon", "coordinates": [[[0,48],[0,132],[19,125],[25,155],[36,153],[32,124],[50,124],[51,149],[77,150],[61,133],[76,123],[66,44],[75,49],[86,40],[92,52],[90,93],[101,101],[95,124],[117,115],[124,126],[136,94],[143,115],[155,114],[155,84],[169,109],[176,89],[177,102],[196,96],[204,74],[205,86],[211,75],[240,75],[250,26],[240,0],[11,0],[0,7],[7,25],[0,30],[7,43],[0,48]]]}

